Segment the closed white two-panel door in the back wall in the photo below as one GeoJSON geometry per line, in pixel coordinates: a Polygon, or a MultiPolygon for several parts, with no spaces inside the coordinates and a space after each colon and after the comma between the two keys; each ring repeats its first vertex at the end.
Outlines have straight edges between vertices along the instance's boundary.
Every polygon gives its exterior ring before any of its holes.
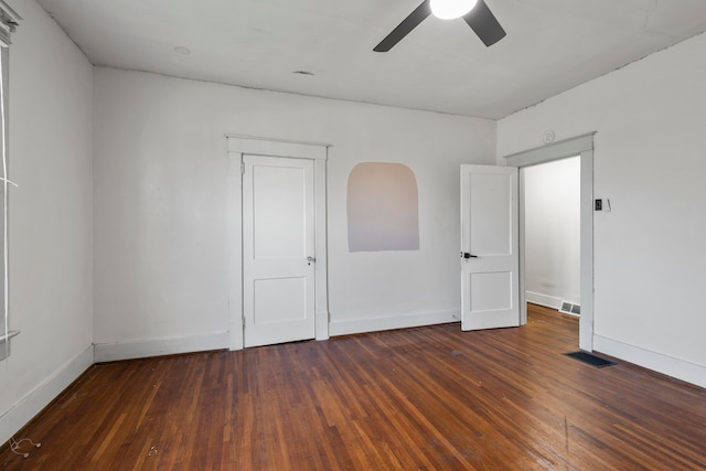
{"type": "Polygon", "coordinates": [[[243,156],[244,345],[314,338],[313,161],[243,156]]]}

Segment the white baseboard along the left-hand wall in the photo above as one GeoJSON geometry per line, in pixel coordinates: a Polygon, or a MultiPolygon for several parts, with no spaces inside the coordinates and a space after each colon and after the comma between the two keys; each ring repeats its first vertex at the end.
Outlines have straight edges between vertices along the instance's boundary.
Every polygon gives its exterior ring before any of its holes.
{"type": "Polygon", "coordinates": [[[34,416],[56,398],[68,385],[88,370],[93,361],[94,347],[76,355],[39,386],[20,399],[14,406],[0,417],[0,443],[7,442],[14,433],[24,427],[34,416]]]}

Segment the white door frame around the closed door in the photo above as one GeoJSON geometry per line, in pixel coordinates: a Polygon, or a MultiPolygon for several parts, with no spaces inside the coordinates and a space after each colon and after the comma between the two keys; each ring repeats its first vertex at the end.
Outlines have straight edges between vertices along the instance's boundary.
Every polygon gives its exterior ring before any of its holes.
{"type": "Polygon", "coordinates": [[[243,350],[243,156],[313,160],[314,192],[314,339],[329,339],[329,289],[327,244],[327,160],[329,144],[290,142],[226,135],[227,140],[227,246],[229,349],[243,350]]]}

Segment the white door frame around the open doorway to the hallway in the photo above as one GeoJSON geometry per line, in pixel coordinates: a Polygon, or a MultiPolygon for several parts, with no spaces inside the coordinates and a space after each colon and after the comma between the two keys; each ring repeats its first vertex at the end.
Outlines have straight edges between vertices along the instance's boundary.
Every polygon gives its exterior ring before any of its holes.
{"type": "Polygon", "coordinates": [[[580,297],[579,349],[593,351],[593,136],[596,132],[565,139],[543,147],[505,156],[505,164],[520,169],[520,320],[527,322],[525,296],[525,167],[569,157],[580,158],[580,297]]]}

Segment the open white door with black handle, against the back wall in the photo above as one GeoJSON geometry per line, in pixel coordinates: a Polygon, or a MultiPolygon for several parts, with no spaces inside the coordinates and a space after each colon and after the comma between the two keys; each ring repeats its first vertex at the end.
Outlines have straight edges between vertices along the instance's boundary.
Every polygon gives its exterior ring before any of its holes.
{"type": "Polygon", "coordinates": [[[461,329],[520,325],[517,169],[461,165],[461,329]]]}

